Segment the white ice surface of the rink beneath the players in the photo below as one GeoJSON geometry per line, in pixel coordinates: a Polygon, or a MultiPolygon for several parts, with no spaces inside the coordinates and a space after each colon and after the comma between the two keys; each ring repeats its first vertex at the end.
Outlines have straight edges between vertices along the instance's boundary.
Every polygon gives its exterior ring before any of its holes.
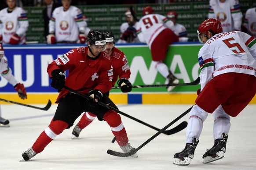
{"type": "MultiPolygon", "coordinates": [[[[174,135],[161,134],[140,149],[138,158],[116,157],[107,149],[121,152],[106,122],[95,120],[71,139],[73,127],[57,136],[43,152],[27,162],[19,162],[21,154],[30,148],[48,126],[57,105],[48,111],[19,105],[1,105],[2,116],[11,127],[0,127],[0,170],[255,170],[256,169],[256,105],[247,106],[237,117],[231,118],[227,152],[223,159],[203,164],[202,155],[213,145],[212,115],[208,115],[201,133],[194,159],[189,166],[173,164],[173,155],[185,147],[186,129],[174,135]]],[[[35,105],[42,106],[44,105],[35,105]]],[[[119,109],[159,129],[182,114],[192,105],[119,105],[119,109]]],[[[129,142],[135,148],[157,131],[128,117],[121,116],[129,142]]],[[[184,120],[185,115],[175,127],[184,120]]],[[[77,124],[80,117],[75,121],[77,124]]],[[[168,128],[168,129],[170,129],[168,128]]]]}

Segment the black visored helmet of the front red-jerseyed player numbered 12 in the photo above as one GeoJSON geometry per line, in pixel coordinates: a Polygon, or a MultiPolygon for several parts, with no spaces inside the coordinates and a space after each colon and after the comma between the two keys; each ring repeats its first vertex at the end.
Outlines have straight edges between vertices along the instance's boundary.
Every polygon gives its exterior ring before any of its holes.
{"type": "Polygon", "coordinates": [[[105,35],[100,30],[91,30],[87,35],[89,47],[92,46],[92,44],[96,46],[102,46],[102,51],[106,49],[106,38],[105,35]],[[104,50],[103,50],[104,49],[104,50]]]}

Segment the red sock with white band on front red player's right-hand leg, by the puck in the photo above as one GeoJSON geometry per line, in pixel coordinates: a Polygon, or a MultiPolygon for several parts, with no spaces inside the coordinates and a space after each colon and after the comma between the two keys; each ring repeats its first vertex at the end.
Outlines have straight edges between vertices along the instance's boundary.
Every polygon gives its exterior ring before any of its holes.
{"type": "Polygon", "coordinates": [[[128,137],[120,115],[113,110],[109,110],[104,114],[103,119],[110,125],[113,135],[117,138],[116,141],[118,145],[127,145],[128,137]]]}

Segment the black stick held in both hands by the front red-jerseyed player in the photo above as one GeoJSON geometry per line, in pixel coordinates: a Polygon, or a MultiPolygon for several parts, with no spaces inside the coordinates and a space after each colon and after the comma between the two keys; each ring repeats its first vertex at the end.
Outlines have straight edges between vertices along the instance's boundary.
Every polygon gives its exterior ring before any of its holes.
{"type": "MultiPolygon", "coordinates": [[[[77,95],[79,95],[79,96],[84,97],[85,99],[90,99],[89,96],[86,96],[86,95],[84,95],[84,94],[82,94],[82,93],[80,93],[80,92],[77,92],[76,90],[73,90],[73,89],[71,89],[71,88],[69,88],[69,87],[67,87],[67,86],[64,86],[64,88],[67,89],[67,90],[69,90],[70,92],[73,92],[73,93],[75,93],[75,94],[77,94],[77,95]]],[[[156,131],[160,131],[160,130],[161,130],[161,129],[158,129],[157,127],[154,127],[154,126],[152,126],[152,125],[150,125],[150,124],[147,124],[147,123],[145,123],[145,122],[143,122],[143,121],[141,121],[141,120],[139,120],[139,119],[137,119],[137,118],[135,118],[135,117],[132,117],[132,116],[130,116],[130,115],[124,113],[124,112],[121,112],[120,110],[117,110],[116,108],[113,108],[113,107],[111,107],[111,106],[109,106],[109,105],[106,105],[105,103],[102,103],[102,102],[98,102],[98,103],[99,103],[99,105],[101,105],[101,106],[103,106],[103,107],[106,107],[107,109],[113,110],[113,111],[115,111],[115,112],[117,112],[117,113],[120,113],[121,115],[124,115],[124,116],[126,116],[126,117],[129,117],[130,119],[135,120],[135,121],[137,121],[137,122],[139,122],[139,123],[141,123],[141,124],[144,124],[144,125],[146,125],[147,127],[151,127],[152,129],[154,129],[154,130],[156,130],[156,131]]],[[[186,128],[186,127],[187,127],[187,122],[186,122],[186,121],[183,121],[182,123],[180,123],[178,126],[174,127],[173,129],[170,129],[170,130],[167,130],[167,131],[161,131],[161,133],[163,133],[163,134],[165,134],[165,135],[172,135],[172,134],[174,134],[174,133],[177,133],[177,132],[179,132],[179,131],[182,131],[182,130],[183,130],[184,128],[186,128]]]]}

